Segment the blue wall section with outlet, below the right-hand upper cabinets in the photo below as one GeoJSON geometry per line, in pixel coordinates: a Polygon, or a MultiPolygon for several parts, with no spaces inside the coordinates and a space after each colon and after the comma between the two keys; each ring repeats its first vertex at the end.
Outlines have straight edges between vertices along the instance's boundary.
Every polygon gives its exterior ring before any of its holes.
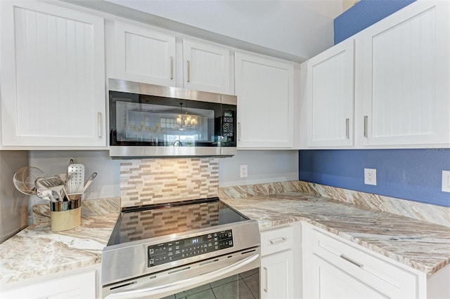
{"type": "Polygon", "coordinates": [[[323,185],[450,206],[441,191],[450,149],[301,150],[299,179],[323,185]],[[364,168],[376,168],[377,185],[364,185],[364,168]]]}

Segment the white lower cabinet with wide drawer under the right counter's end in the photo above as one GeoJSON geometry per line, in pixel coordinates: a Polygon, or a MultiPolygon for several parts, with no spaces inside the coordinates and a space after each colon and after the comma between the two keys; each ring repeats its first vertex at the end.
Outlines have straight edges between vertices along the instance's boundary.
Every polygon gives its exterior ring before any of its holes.
{"type": "Polygon", "coordinates": [[[426,275],[303,224],[304,298],[426,298],[426,275]]]}

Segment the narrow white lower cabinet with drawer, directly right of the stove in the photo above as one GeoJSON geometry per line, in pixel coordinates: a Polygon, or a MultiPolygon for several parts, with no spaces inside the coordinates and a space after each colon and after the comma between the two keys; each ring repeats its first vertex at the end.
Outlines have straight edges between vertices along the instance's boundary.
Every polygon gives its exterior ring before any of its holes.
{"type": "Polygon", "coordinates": [[[293,227],[261,232],[260,298],[294,297],[293,246],[293,227]]]}

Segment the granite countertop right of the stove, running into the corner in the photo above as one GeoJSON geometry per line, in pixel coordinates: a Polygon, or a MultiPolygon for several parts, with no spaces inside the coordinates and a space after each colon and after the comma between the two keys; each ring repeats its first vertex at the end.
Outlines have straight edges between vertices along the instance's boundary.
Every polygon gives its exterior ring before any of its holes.
{"type": "Polygon", "coordinates": [[[450,227],[443,225],[302,192],[221,200],[260,230],[305,221],[426,274],[450,263],[450,227]]]}

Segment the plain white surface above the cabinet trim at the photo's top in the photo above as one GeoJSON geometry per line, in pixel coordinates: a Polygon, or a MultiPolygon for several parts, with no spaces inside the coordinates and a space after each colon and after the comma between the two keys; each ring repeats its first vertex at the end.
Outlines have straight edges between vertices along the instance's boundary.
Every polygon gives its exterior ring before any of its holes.
{"type": "Polygon", "coordinates": [[[342,0],[107,1],[304,58],[333,46],[342,13],[342,0]]]}

